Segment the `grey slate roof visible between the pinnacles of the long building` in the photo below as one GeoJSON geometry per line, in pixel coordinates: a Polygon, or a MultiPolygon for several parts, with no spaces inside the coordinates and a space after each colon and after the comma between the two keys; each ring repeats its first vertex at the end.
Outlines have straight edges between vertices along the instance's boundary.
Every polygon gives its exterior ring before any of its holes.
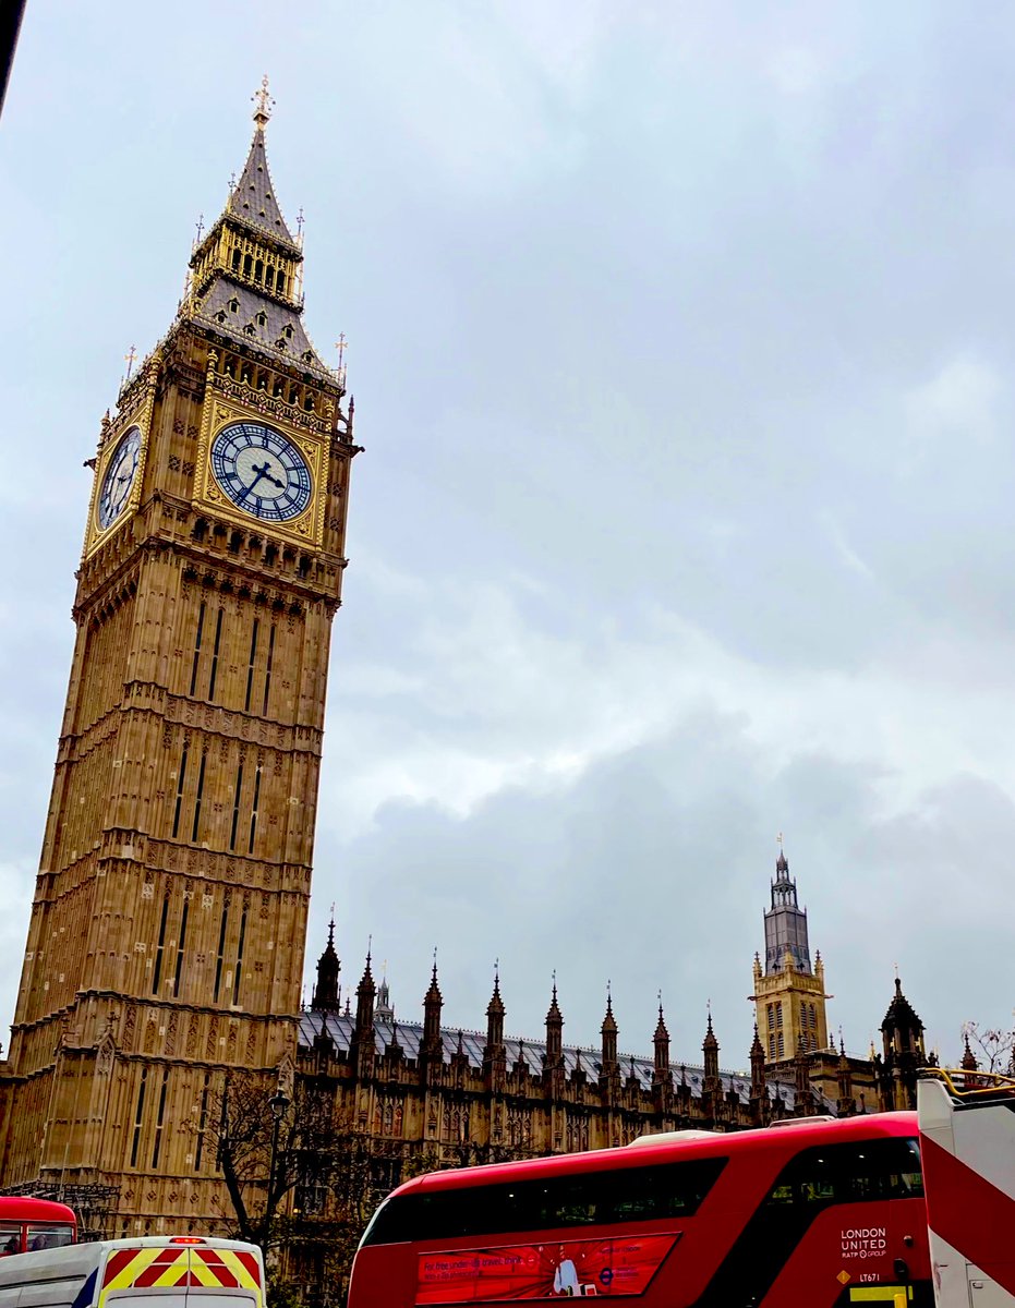
{"type": "MultiPolygon", "coordinates": [[[[300,1014],[300,1045],[310,1049],[314,1044],[317,1036],[320,1035],[323,1029],[331,1036],[335,1042],[335,1048],[341,1053],[348,1053],[349,1045],[352,1042],[353,1029],[356,1027],[356,1019],[344,1012],[320,1012],[313,1008],[305,1008],[300,1014]]],[[[407,1058],[419,1058],[420,1042],[422,1041],[422,1024],[417,1022],[390,1022],[383,1018],[374,1018],[374,1042],[378,1054],[383,1054],[391,1042],[395,1028],[398,1029],[398,1042],[402,1046],[403,1053],[407,1058]]],[[[477,1031],[460,1031],[456,1027],[443,1027],[441,1029],[441,1040],[443,1042],[445,1062],[451,1061],[451,1056],[458,1052],[459,1036],[462,1040],[462,1052],[471,1067],[480,1070],[483,1067],[483,1049],[487,1044],[485,1033],[477,1031]]],[[[505,1049],[508,1050],[508,1071],[513,1071],[519,1059],[525,1061],[530,1073],[534,1076],[539,1076],[543,1073],[543,1054],[547,1052],[545,1042],[542,1040],[517,1040],[508,1039],[504,1041],[505,1049]]],[[[564,1046],[564,1067],[566,1074],[574,1071],[574,1069],[581,1062],[581,1066],[590,1080],[595,1080],[599,1076],[600,1062],[599,1052],[594,1049],[582,1049],[574,1045],[564,1046]]],[[[651,1092],[651,1079],[654,1071],[653,1058],[640,1058],[637,1056],[624,1054],[619,1059],[620,1062],[620,1075],[627,1079],[632,1069],[638,1080],[640,1087],[645,1092],[651,1092]]],[[[674,1086],[680,1084],[681,1069],[687,1076],[687,1083],[691,1087],[691,1093],[695,1099],[701,1096],[701,1083],[705,1075],[705,1070],[700,1066],[671,1063],[671,1070],[674,1073],[674,1086]]],[[[729,1090],[735,1090],[742,1104],[748,1104],[751,1100],[751,1078],[740,1075],[739,1073],[723,1071],[719,1074],[722,1080],[723,1093],[729,1090]]],[[[769,1083],[768,1097],[774,1100],[776,1096],[782,1100],[787,1112],[793,1110],[795,1101],[795,1092],[793,1086],[786,1084],[773,1084],[769,1083]]],[[[819,1108],[829,1108],[831,1104],[821,1105],[819,1108]]]]}

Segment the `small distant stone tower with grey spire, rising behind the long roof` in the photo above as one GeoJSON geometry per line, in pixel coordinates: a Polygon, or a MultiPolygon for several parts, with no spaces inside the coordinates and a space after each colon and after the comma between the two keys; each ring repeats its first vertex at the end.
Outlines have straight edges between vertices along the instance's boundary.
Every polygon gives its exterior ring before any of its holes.
{"type": "Polygon", "coordinates": [[[828,1049],[824,964],[811,967],[807,910],[797,901],[797,883],[780,850],[772,882],[772,904],[765,910],[765,963],[755,955],[755,1020],[772,1066],[798,1054],[828,1049]]]}

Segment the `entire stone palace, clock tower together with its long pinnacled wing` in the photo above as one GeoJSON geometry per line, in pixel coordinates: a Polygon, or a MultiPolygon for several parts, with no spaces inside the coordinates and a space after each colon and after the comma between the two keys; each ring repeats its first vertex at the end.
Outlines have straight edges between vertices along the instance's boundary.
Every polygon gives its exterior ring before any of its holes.
{"type": "MultiPolygon", "coordinates": [[[[353,403],[302,323],[302,243],[264,152],[267,89],[225,209],[194,247],[166,335],[101,424],[76,644],[10,1045],[0,1189],[103,1194],[109,1236],[215,1227],[201,1129],[238,1070],[327,1087],[369,1150],[434,1165],[901,1107],[923,1061],[896,981],[883,1049],[829,1044],[824,969],[782,854],[753,967],[749,1075],[395,1022],[370,959],[343,997],[334,923],[301,981],[331,621],[345,568],[353,403]]],[[[481,1025],[481,1023],[480,1023],[481,1025]]],[[[646,1032],[647,1035],[647,1032],[646,1032]]],[[[647,1045],[647,1041],[646,1041],[647,1045]]]]}

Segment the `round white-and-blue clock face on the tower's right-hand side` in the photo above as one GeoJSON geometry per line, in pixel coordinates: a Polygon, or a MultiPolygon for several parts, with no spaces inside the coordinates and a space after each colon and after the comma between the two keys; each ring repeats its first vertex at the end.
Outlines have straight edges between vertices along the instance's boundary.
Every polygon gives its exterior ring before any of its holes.
{"type": "Polygon", "coordinates": [[[230,422],[212,443],[212,472],[237,508],[264,522],[288,522],[310,504],[306,459],[264,422],[230,422]]]}

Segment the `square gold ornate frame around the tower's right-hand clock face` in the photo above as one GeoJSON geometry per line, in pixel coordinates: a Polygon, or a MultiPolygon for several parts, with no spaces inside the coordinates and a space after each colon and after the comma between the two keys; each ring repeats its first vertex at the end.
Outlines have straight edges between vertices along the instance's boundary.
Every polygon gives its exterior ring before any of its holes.
{"type": "Polygon", "coordinates": [[[318,548],[324,538],[324,496],[320,488],[324,483],[326,442],[311,433],[293,426],[275,413],[259,413],[256,409],[235,404],[221,395],[212,395],[201,415],[201,432],[198,439],[198,470],[195,473],[194,502],[208,509],[216,517],[225,518],[238,527],[266,536],[280,536],[294,544],[318,548]],[[212,445],[218,434],[233,422],[262,422],[280,432],[306,459],[310,470],[310,502],[301,514],[285,522],[267,522],[254,513],[245,513],[222,490],[212,471],[212,445]]]}

